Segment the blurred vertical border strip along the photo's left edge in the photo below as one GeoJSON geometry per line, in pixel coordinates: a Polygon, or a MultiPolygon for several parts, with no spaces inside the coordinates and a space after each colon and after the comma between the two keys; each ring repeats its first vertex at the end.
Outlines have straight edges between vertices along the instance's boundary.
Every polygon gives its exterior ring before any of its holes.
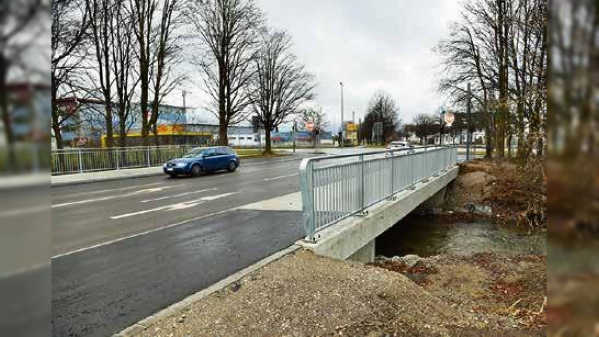
{"type": "Polygon", "coordinates": [[[0,4],[0,336],[51,331],[49,13],[0,4]]]}

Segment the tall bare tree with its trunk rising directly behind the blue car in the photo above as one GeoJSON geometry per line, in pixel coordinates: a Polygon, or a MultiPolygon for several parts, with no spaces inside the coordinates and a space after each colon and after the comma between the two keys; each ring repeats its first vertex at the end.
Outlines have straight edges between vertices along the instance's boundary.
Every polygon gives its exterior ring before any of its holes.
{"type": "Polygon", "coordinates": [[[262,14],[253,0],[193,0],[189,21],[207,51],[195,63],[217,107],[219,144],[227,145],[227,128],[247,117],[247,91],[254,75],[252,59],[262,14]]]}

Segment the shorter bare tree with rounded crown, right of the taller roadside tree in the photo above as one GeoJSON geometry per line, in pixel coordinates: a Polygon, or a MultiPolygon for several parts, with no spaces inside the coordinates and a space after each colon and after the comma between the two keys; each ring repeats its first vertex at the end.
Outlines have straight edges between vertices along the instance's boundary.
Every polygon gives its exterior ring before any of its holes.
{"type": "Polygon", "coordinates": [[[271,131],[312,99],[313,76],[291,52],[291,37],[283,31],[264,29],[262,45],[255,58],[256,75],[250,96],[253,111],[264,124],[265,152],[271,153],[271,131]]]}

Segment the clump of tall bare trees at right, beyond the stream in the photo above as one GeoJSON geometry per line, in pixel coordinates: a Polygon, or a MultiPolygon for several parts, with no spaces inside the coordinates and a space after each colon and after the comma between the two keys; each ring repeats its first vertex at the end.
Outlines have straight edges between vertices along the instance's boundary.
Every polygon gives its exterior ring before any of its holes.
{"type": "Polygon", "coordinates": [[[461,20],[437,48],[445,65],[441,92],[463,107],[464,89],[472,84],[486,120],[487,157],[494,149],[504,156],[506,139],[515,135],[518,155],[527,157],[531,144],[543,138],[546,13],[545,0],[467,2],[461,20]]]}

